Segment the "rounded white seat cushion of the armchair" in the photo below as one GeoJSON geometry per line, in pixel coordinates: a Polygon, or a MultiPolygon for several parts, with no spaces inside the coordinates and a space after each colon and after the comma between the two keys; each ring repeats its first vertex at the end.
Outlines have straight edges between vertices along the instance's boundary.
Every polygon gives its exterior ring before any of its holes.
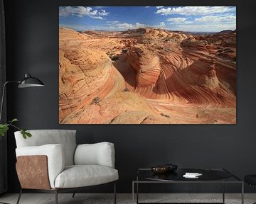
{"type": "Polygon", "coordinates": [[[118,171],[108,166],[65,166],[65,169],[55,179],[55,188],[95,186],[117,180],[118,171]]]}

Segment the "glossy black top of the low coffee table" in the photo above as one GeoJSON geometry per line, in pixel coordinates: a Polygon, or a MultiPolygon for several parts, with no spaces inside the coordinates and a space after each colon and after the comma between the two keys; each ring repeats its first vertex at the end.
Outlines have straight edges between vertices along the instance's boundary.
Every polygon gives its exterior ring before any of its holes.
{"type": "Polygon", "coordinates": [[[231,174],[225,169],[177,169],[166,174],[155,174],[151,169],[138,169],[137,181],[241,181],[237,176],[231,174]],[[202,174],[198,178],[183,177],[186,172],[202,174]]]}

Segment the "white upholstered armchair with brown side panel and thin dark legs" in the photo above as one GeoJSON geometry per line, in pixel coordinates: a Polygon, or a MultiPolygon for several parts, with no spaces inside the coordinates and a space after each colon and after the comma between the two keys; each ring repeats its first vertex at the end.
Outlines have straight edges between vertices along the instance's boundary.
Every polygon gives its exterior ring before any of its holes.
{"type": "MultiPolygon", "coordinates": [[[[76,145],[75,130],[28,130],[32,137],[23,139],[15,132],[16,171],[23,189],[55,193],[78,191],[86,186],[114,183],[118,171],[114,169],[114,145],[110,142],[76,145]]],[[[73,194],[73,197],[75,193],[73,194]]]]}

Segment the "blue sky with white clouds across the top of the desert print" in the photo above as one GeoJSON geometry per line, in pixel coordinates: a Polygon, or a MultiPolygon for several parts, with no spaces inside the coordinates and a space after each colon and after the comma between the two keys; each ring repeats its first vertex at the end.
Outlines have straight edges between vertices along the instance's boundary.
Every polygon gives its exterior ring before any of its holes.
{"type": "Polygon", "coordinates": [[[60,6],[59,26],[74,30],[164,28],[191,32],[236,29],[234,6],[60,6]]]}

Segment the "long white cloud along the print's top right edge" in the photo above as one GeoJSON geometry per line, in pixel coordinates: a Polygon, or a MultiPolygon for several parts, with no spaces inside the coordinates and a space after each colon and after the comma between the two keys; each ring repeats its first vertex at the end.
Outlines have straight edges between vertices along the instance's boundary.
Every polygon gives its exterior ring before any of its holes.
{"type": "Polygon", "coordinates": [[[155,13],[161,15],[171,15],[171,14],[180,14],[180,15],[210,15],[213,13],[225,13],[235,11],[235,7],[229,6],[184,6],[184,7],[168,7],[161,8],[155,13]]]}

